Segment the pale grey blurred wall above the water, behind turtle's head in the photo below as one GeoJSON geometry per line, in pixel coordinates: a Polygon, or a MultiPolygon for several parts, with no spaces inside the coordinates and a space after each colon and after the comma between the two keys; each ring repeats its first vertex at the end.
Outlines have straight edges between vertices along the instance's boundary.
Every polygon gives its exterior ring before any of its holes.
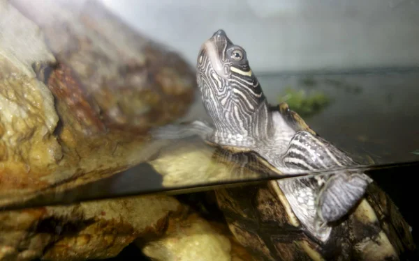
{"type": "Polygon", "coordinates": [[[103,0],[191,63],[224,29],[255,72],[419,65],[419,2],[409,0],[103,0]]]}

